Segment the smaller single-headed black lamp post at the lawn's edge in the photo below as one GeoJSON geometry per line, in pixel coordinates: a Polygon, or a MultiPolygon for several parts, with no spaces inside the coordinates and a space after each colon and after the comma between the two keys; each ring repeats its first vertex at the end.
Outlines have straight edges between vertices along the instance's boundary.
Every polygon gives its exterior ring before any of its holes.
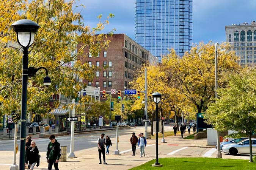
{"type": "Polygon", "coordinates": [[[154,99],[154,102],[156,104],[155,108],[155,121],[156,121],[156,127],[155,127],[155,164],[152,164],[152,167],[162,167],[160,163],[158,163],[158,131],[159,131],[159,122],[158,122],[158,103],[161,100],[162,94],[160,93],[153,93],[152,97],[154,99]]]}

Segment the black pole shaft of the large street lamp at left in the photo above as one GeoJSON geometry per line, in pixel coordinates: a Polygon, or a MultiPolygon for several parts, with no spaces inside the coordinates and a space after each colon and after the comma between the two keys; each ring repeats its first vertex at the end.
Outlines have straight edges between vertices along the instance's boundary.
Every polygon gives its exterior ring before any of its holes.
{"type": "Polygon", "coordinates": [[[28,93],[28,48],[23,48],[22,56],[22,93],[21,93],[21,119],[20,119],[20,170],[25,169],[25,142],[27,119],[27,93],[28,93]]]}

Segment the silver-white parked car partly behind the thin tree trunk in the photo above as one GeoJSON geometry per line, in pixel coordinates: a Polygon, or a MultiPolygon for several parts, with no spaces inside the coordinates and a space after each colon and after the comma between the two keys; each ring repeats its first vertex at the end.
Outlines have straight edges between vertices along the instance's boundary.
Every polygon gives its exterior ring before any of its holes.
{"type": "MultiPolygon", "coordinates": [[[[251,142],[252,142],[253,154],[255,154],[256,139],[252,138],[251,142]]],[[[230,153],[231,155],[236,155],[237,153],[250,154],[249,139],[244,139],[243,141],[237,142],[236,144],[223,145],[222,151],[224,153],[230,153]]]]}

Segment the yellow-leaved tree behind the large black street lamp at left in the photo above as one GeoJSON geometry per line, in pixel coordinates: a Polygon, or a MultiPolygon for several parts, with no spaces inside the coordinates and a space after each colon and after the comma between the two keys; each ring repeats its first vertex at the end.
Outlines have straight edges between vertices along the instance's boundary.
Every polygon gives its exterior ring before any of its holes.
{"type": "MultiPolygon", "coordinates": [[[[95,34],[104,29],[109,23],[108,19],[114,15],[110,14],[103,22],[102,15],[99,15],[97,26],[90,28],[83,25],[80,12],[74,12],[75,0],[4,0],[0,6],[0,116],[20,108],[22,55],[20,47],[14,43],[17,41],[16,33],[9,28],[12,23],[25,17],[41,26],[29,48],[29,66],[46,67],[52,79],[49,88],[43,86],[43,71],[28,80],[27,110],[48,113],[48,99],[53,94],[77,97],[77,91],[86,87],[86,83],[78,82],[77,77],[92,80],[96,69],[82,62],[88,55],[83,53],[83,49],[90,46],[90,53],[97,56],[101,49],[107,48],[109,41],[105,41],[105,38],[111,36],[112,31],[98,36],[95,34]],[[77,49],[79,42],[84,45],[77,49]],[[77,53],[74,53],[76,50],[77,53]],[[59,86],[57,91],[55,85],[59,86]]],[[[80,7],[83,8],[82,5],[80,7]]],[[[55,106],[58,105],[56,102],[55,106]]]]}

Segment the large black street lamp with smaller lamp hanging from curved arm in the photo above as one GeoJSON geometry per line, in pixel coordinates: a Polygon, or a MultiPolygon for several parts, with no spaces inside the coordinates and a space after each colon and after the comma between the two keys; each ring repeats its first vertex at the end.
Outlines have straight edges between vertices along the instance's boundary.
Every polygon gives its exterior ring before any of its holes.
{"type": "Polygon", "coordinates": [[[28,68],[28,48],[33,44],[35,33],[38,31],[40,26],[26,19],[19,20],[11,25],[11,28],[17,34],[17,41],[23,49],[22,56],[22,97],[21,97],[21,127],[20,127],[20,170],[25,169],[25,140],[26,140],[26,119],[27,119],[27,92],[28,92],[28,77],[34,77],[39,69],[46,70],[46,77],[44,77],[44,85],[49,87],[51,79],[48,76],[48,71],[44,67],[38,69],[29,67],[28,68]]]}

